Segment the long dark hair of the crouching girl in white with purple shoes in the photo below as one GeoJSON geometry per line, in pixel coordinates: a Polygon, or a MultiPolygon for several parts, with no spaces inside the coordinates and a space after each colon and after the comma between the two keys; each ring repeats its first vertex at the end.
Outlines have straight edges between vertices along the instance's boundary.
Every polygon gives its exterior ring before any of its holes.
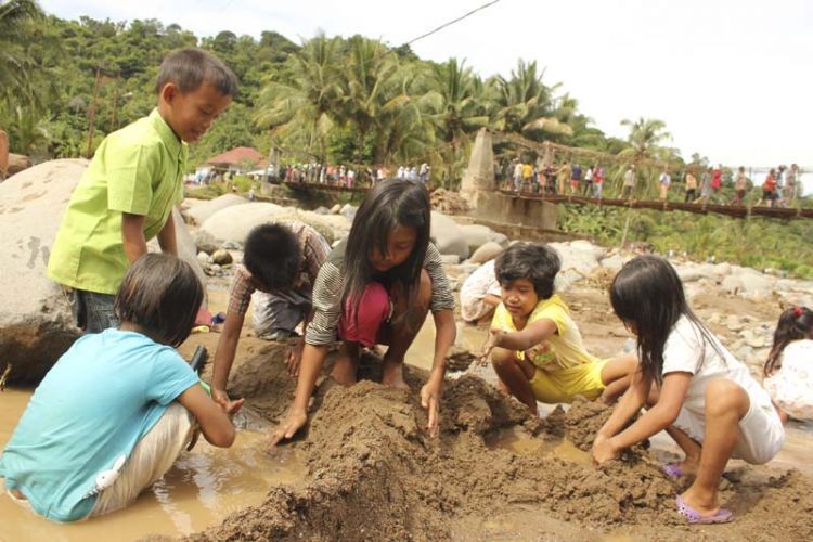
{"type": "Polygon", "coordinates": [[[695,324],[704,346],[710,344],[725,359],[711,332],[688,308],[683,283],[663,258],[645,255],[628,261],[612,280],[609,293],[618,318],[635,326],[644,376],[658,385],[663,382],[663,348],[681,317],[695,324]]]}

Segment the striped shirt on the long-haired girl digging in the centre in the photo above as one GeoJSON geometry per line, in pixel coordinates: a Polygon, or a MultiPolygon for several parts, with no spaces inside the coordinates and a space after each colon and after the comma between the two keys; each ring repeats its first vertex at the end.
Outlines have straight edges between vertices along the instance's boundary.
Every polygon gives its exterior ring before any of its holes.
{"type": "MultiPolygon", "coordinates": [[[[341,291],[345,286],[345,243],[333,249],[313,284],[313,320],[305,334],[305,341],[309,345],[330,345],[336,340],[336,328],[341,318],[341,291]]],[[[454,295],[443,272],[440,253],[431,243],[426,248],[424,268],[431,279],[431,311],[454,309],[454,295]]]]}

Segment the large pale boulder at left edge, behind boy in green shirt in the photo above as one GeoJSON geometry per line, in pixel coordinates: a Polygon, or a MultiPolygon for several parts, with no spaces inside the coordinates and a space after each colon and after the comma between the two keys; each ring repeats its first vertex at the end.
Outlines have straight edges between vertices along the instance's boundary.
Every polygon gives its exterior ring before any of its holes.
{"type": "Polygon", "coordinates": [[[33,384],[79,336],[61,287],[46,276],[51,245],[70,192],[88,162],[40,164],[0,184],[0,373],[33,384]]]}

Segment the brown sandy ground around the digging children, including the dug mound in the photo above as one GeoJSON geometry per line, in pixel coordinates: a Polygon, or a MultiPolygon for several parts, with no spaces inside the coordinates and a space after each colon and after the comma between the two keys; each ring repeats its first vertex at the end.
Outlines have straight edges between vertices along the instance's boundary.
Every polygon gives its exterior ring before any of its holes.
{"type": "MultiPolygon", "coordinates": [[[[619,353],[628,333],[612,315],[601,284],[564,295],[591,351],[619,353]]],[[[224,286],[210,288],[214,307],[224,286]]],[[[695,308],[774,320],[778,306],[714,296],[695,308]]],[[[264,502],[229,516],[191,540],[811,540],[813,464],[810,428],[789,434],[789,446],[766,466],[732,462],[721,482],[733,524],[687,527],[674,512],[674,495],[687,483],[668,479],[660,463],[675,448],[663,437],[595,468],[588,453],[608,412],[578,402],[567,412],[531,418],[485,379],[449,379],[441,435],[423,429],[426,414],[417,390],[431,354],[430,319],[410,352],[410,391],[376,384],[378,364],[365,358],[350,388],[318,383],[307,431],[269,453],[296,451],[308,474],[297,488],[273,487],[264,502]],[[805,433],[808,431],[808,433],[805,433]]],[[[462,326],[462,346],[475,348],[485,328],[462,326]]],[[[712,325],[724,341],[734,337],[712,325]]],[[[230,391],[245,397],[267,430],[293,399],[283,347],[244,330],[230,391]]],[[[217,334],[195,335],[214,353],[217,334]]],[[[487,372],[481,372],[489,379],[487,372]]],[[[546,409],[545,412],[551,412],[546,409]]]]}

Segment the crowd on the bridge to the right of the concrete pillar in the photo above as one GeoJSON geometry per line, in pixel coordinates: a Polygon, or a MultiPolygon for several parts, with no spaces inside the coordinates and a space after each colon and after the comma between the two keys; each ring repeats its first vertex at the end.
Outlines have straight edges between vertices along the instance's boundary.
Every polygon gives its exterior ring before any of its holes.
{"type": "MultiPolygon", "coordinates": [[[[517,193],[544,195],[583,196],[601,199],[607,179],[607,170],[602,164],[563,159],[555,163],[533,164],[514,158],[495,166],[495,176],[502,190],[517,193]]],[[[635,199],[643,185],[643,173],[635,164],[630,164],[621,175],[622,199],[635,199]]],[[[754,206],[790,207],[802,193],[801,171],[796,164],[790,167],[772,168],[759,188],[761,197],[754,206]]],[[[757,188],[754,179],[746,175],[746,168],[726,170],[722,165],[687,167],[681,173],[683,179],[683,202],[693,204],[746,205],[746,196],[751,188],[757,188]],[[733,188],[733,196],[724,188],[733,188]],[[749,188],[751,186],[751,188],[749,188]]],[[[679,177],[679,178],[680,178],[679,177]]],[[[674,185],[672,172],[663,167],[657,178],[660,201],[669,201],[674,185]]]]}

